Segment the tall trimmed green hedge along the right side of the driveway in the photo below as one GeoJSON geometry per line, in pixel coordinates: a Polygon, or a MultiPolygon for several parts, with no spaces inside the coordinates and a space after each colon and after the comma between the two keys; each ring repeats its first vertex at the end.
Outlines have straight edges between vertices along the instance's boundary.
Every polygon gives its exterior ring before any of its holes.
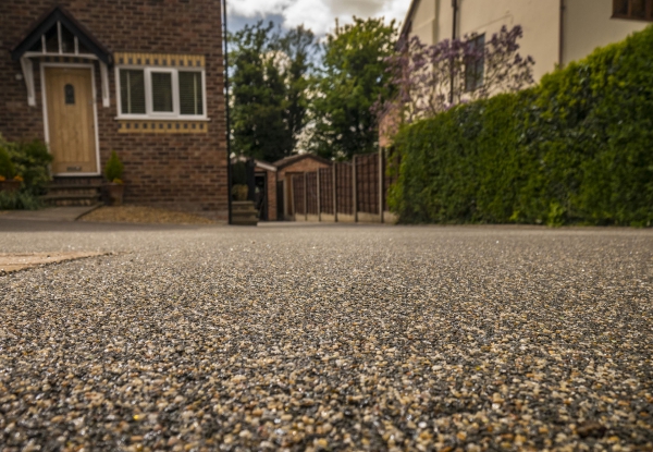
{"type": "Polygon", "coordinates": [[[653,27],[395,137],[403,222],[653,222],[653,27]]]}

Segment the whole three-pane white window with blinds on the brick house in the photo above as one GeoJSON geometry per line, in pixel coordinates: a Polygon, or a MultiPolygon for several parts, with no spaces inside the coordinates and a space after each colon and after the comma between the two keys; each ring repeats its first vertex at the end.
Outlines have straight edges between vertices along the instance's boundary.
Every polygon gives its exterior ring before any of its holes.
{"type": "Polygon", "coordinates": [[[130,119],[206,119],[204,71],[119,68],[120,113],[130,119]]]}

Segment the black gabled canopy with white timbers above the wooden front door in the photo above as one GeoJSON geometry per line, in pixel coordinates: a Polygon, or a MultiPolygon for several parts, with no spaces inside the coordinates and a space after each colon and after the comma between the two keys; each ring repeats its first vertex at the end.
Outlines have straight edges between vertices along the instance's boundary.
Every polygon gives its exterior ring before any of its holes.
{"type": "Polygon", "coordinates": [[[97,58],[104,64],[112,63],[109,50],[61,7],[44,14],[11,51],[15,61],[38,56],[97,58]]]}

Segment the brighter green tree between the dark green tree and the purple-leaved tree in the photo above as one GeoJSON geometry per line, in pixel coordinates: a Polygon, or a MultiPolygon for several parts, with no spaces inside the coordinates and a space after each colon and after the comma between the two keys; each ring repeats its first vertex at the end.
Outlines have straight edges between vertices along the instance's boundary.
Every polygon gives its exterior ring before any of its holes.
{"type": "Polygon", "coordinates": [[[378,120],[370,108],[394,90],[386,58],[396,35],[394,21],[354,17],[326,36],[312,99],[312,151],[344,159],[377,150],[378,120]]]}

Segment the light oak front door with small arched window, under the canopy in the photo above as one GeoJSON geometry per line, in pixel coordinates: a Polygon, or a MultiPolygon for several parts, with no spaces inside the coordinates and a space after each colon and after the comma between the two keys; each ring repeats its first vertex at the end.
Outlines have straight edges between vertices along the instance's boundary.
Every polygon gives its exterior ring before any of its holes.
{"type": "Polygon", "coordinates": [[[45,68],[45,72],[52,172],[97,173],[90,68],[45,68]]]}

